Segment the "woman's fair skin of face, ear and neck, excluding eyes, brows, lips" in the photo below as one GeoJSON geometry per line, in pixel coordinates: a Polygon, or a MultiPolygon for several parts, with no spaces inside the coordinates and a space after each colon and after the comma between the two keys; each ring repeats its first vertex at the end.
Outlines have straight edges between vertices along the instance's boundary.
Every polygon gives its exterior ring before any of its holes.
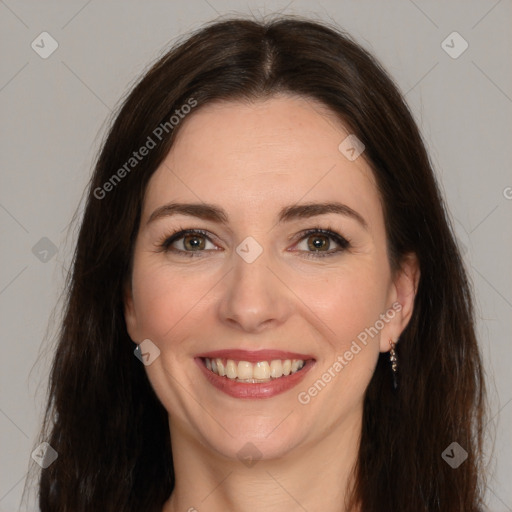
{"type": "MultiPolygon", "coordinates": [[[[397,340],[410,319],[419,279],[413,255],[392,274],[373,173],[364,153],[349,161],[338,150],[347,135],[310,99],[208,104],[187,117],[148,184],[125,318],[136,343],[149,338],[160,349],[145,369],[169,412],[176,486],[163,512],[249,512],[255,503],[268,512],[345,510],[364,392],[379,352],[389,351],[389,339],[397,340]],[[180,214],[147,224],[171,201],[214,203],[229,221],[180,214]],[[356,210],[368,228],[336,213],[277,223],[284,206],[325,201],[356,210]],[[301,238],[318,227],[350,246],[315,257],[318,236],[321,250],[339,247],[321,234],[301,238]],[[211,234],[211,241],[199,235],[199,257],[159,249],[181,228],[211,234]],[[248,236],[263,249],[252,263],[235,251],[248,236]],[[401,310],[379,334],[301,404],[298,393],[395,302],[401,310]],[[214,388],[194,362],[224,348],[293,350],[314,355],[316,364],[280,395],[237,399],[214,388]],[[248,442],[261,452],[251,467],[237,457],[248,442]]],[[[194,251],[183,238],[173,247],[194,251]]]]}

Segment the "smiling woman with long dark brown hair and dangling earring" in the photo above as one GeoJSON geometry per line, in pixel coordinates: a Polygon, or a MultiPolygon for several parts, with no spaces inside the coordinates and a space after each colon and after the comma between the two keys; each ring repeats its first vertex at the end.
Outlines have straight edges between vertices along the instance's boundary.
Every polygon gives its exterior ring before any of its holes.
{"type": "Polygon", "coordinates": [[[382,67],[315,22],[212,23],[145,74],[99,155],[40,508],[475,511],[482,374],[382,67]]]}

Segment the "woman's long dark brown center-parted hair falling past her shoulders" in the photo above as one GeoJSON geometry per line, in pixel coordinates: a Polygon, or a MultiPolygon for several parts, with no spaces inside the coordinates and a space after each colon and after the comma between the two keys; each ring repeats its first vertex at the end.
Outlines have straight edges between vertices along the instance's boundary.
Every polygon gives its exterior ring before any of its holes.
{"type": "Polygon", "coordinates": [[[201,27],[146,70],[109,124],[55,338],[38,443],[48,442],[58,459],[40,472],[41,512],[161,512],[175,481],[168,413],[134,357],[123,308],[144,193],[186,122],[170,127],[169,119],[191,98],[199,109],[277,93],[320,101],[364,143],[391,267],[413,252],[421,269],[414,313],[396,349],[398,389],[388,354],[380,354],[365,393],[347,509],[482,506],[486,400],[472,291],[425,144],[371,54],[337,27],[287,16],[201,27]],[[164,123],[158,138],[154,130],[164,123]],[[155,147],[112,181],[152,134],[155,147]],[[468,454],[457,469],[442,457],[452,442],[468,454]]]}

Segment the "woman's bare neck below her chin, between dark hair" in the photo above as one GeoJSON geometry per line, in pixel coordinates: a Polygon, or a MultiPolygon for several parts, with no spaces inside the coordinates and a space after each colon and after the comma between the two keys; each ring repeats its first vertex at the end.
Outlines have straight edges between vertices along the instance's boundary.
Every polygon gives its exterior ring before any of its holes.
{"type": "MultiPolygon", "coordinates": [[[[162,512],[348,512],[346,490],[357,461],[362,412],[282,457],[251,465],[199,443],[169,419],[175,487],[162,512]]],[[[239,443],[241,446],[244,442],[239,443]]],[[[256,444],[256,442],[255,442],[256,444]]]]}

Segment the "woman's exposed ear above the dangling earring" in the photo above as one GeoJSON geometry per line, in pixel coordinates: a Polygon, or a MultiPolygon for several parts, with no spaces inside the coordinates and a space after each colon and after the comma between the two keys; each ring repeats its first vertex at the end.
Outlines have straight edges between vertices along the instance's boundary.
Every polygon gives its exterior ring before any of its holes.
{"type": "Polygon", "coordinates": [[[393,277],[388,294],[386,316],[389,320],[380,333],[381,352],[388,352],[391,348],[389,340],[396,342],[407,327],[413,313],[419,280],[418,257],[414,253],[406,254],[400,263],[400,268],[393,277]]]}

